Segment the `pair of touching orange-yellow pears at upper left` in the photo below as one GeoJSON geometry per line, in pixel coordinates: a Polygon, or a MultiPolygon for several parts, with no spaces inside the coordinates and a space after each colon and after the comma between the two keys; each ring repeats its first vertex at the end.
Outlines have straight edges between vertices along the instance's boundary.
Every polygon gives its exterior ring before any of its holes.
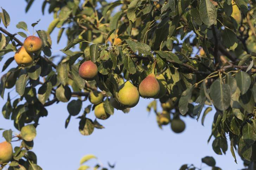
{"type": "Polygon", "coordinates": [[[33,53],[38,53],[43,48],[43,41],[36,36],[28,36],[14,55],[14,60],[21,67],[28,67],[33,63],[33,53]]]}

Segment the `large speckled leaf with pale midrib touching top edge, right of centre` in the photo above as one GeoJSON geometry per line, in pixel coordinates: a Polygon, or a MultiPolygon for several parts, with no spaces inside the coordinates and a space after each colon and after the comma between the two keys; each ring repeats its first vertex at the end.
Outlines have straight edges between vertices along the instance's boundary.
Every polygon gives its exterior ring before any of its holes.
{"type": "Polygon", "coordinates": [[[200,2],[199,13],[202,21],[208,26],[213,25],[217,19],[216,7],[210,0],[200,2]]]}

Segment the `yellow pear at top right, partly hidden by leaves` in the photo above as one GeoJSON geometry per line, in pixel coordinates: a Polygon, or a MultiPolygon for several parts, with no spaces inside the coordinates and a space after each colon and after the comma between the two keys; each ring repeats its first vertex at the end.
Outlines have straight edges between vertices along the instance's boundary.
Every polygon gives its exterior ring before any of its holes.
{"type": "MultiPolygon", "coordinates": [[[[236,5],[236,3],[234,1],[232,1],[232,8],[233,8],[233,12],[232,12],[231,16],[241,25],[242,15],[240,13],[238,6],[236,5]]],[[[230,29],[235,29],[235,26],[230,17],[227,17],[227,15],[225,13],[222,14],[222,17],[223,17],[223,25],[224,26],[229,27],[230,29]]]]}

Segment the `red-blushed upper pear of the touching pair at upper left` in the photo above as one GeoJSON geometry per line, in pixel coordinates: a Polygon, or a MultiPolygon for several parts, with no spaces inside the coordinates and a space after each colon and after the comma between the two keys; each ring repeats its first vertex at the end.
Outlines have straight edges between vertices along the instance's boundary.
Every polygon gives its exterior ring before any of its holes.
{"type": "Polygon", "coordinates": [[[23,46],[25,47],[28,53],[37,53],[43,48],[43,41],[36,36],[28,36],[23,46]]]}

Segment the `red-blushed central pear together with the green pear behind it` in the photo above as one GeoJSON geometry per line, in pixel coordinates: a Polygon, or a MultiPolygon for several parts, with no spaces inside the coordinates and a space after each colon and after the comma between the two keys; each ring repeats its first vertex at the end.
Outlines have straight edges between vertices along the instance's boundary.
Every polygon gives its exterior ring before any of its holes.
{"type": "Polygon", "coordinates": [[[167,82],[164,75],[149,74],[139,86],[139,93],[143,98],[161,98],[167,92],[167,82]]]}

